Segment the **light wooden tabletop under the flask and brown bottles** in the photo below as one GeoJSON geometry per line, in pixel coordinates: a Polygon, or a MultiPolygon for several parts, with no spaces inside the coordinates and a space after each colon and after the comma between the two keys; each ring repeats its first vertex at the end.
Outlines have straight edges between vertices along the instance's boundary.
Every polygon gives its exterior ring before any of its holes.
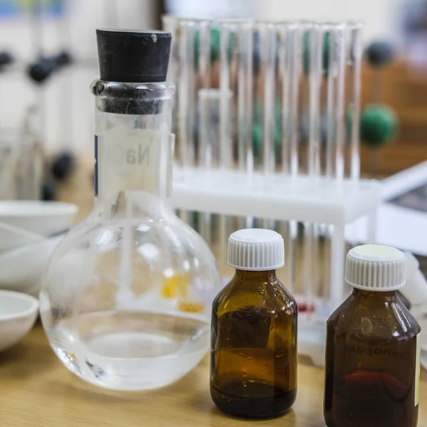
{"type": "MultiPolygon", "coordinates": [[[[60,189],[77,203],[79,218],[93,204],[88,175],[60,189]]],[[[41,324],[16,347],[0,353],[0,427],[238,427],[325,426],[322,369],[300,364],[297,400],[280,418],[241,420],[224,415],[209,394],[209,360],[164,389],[114,392],[85,384],[65,369],[49,347],[41,324]]],[[[421,372],[421,416],[427,427],[427,372],[421,372]],[[423,408],[426,408],[423,416],[423,408]]]]}

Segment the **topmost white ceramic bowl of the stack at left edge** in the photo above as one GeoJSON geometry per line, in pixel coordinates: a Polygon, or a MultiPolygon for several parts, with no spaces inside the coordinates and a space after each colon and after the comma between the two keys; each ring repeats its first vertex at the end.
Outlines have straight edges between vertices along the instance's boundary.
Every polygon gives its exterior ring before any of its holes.
{"type": "MultiPolygon", "coordinates": [[[[0,222],[39,236],[51,236],[70,228],[77,211],[74,204],[59,201],[5,200],[0,201],[0,222]]],[[[33,241],[0,226],[0,251],[28,243],[33,241]]]]}

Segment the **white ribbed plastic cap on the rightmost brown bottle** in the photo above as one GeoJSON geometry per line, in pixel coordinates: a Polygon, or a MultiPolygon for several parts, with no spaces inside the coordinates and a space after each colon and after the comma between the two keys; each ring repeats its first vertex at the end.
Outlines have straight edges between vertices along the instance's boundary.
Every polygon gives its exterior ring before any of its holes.
{"type": "Polygon", "coordinates": [[[345,281],[364,290],[396,290],[405,285],[405,255],[382,245],[362,245],[347,253],[345,281]]]}

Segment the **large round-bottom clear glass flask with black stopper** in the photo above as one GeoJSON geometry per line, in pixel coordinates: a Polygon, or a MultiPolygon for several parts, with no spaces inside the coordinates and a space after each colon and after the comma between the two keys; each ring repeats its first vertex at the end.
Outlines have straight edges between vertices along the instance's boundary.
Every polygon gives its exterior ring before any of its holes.
{"type": "MultiPolygon", "coordinates": [[[[131,47],[148,40],[156,44],[149,54],[160,51],[167,60],[170,35],[154,36],[98,31],[98,46],[101,40],[103,58],[115,38],[131,47]]],[[[204,240],[167,202],[174,85],[111,81],[102,58],[100,51],[102,80],[92,85],[95,208],[51,259],[41,317],[51,346],[74,374],[108,389],[154,389],[184,376],[206,354],[221,278],[204,240]]]]}

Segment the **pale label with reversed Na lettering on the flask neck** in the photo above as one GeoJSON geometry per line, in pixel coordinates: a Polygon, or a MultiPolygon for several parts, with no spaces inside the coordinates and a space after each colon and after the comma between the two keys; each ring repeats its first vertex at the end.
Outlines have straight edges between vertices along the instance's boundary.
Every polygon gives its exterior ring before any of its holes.
{"type": "Polygon", "coordinates": [[[110,197],[123,189],[169,190],[174,135],[113,129],[98,135],[96,142],[100,197],[110,197]]]}

